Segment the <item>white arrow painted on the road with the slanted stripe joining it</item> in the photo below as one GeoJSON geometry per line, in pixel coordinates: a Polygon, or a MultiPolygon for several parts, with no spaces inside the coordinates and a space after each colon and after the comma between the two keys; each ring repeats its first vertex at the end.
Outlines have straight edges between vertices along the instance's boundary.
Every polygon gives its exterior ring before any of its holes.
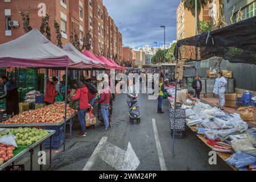
{"type": "Polygon", "coordinates": [[[96,161],[96,157],[99,156],[104,162],[118,171],[135,171],[140,162],[130,142],[125,151],[112,143],[106,142],[107,139],[108,137],[102,137],[83,170],[90,170],[96,161]]]}

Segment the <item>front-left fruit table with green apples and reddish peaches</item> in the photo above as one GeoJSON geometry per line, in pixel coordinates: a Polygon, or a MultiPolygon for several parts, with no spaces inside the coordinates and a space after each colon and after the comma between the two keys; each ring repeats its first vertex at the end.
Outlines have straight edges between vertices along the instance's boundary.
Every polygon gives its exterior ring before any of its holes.
{"type": "MultiPolygon", "coordinates": [[[[51,152],[51,146],[52,146],[52,137],[55,134],[55,130],[38,130],[38,129],[1,129],[0,128],[0,148],[1,148],[1,155],[0,155],[0,171],[5,169],[7,166],[12,165],[13,171],[15,166],[15,161],[19,158],[22,158],[26,152],[30,152],[30,170],[33,169],[33,153],[34,148],[37,146],[40,146],[40,151],[43,150],[43,142],[46,140],[49,141],[49,167],[51,167],[52,163],[52,152],[51,152]],[[9,134],[12,134],[16,137],[16,139],[13,141],[10,139],[11,136],[9,134]],[[27,137],[25,135],[28,135],[27,137]],[[22,136],[21,136],[22,135],[22,136]],[[30,139],[28,140],[28,137],[30,139]],[[15,142],[16,141],[16,142],[15,142]],[[3,144],[5,142],[6,144],[3,144]],[[12,144],[14,143],[14,144],[12,144]],[[3,152],[3,148],[6,148],[6,152],[3,152]],[[6,154],[7,158],[3,156],[6,154]],[[9,158],[8,158],[9,156],[9,158]],[[2,159],[4,159],[2,161],[2,159]]],[[[40,165],[40,171],[43,169],[43,164],[40,165]]]]}

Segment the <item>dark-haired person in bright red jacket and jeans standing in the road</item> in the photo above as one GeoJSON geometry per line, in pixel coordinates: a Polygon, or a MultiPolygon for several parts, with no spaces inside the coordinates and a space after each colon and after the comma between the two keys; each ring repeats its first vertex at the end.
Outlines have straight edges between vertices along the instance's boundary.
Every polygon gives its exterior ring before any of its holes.
{"type": "Polygon", "coordinates": [[[79,100],[79,110],[78,117],[81,125],[81,132],[77,135],[77,137],[86,137],[86,123],[85,123],[85,114],[87,109],[90,107],[88,103],[88,89],[81,81],[77,81],[76,83],[77,90],[76,94],[72,97],[72,100],[79,100]]]}

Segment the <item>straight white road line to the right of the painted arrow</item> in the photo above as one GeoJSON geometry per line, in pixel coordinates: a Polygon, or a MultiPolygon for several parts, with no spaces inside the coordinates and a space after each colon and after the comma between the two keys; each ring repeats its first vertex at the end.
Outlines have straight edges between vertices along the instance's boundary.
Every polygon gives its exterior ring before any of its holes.
{"type": "Polygon", "coordinates": [[[164,162],[164,155],[163,155],[162,147],[161,147],[160,140],[158,137],[158,129],[156,128],[154,118],[152,118],[152,124],[153,124],[153,129],[154,129],[154,134],[155,134],[156,149],[158,150],[158,158],[159,158],[159,162],[160,162],[160,168],[162,171],[167,171],[166,162],[164,162]]]}

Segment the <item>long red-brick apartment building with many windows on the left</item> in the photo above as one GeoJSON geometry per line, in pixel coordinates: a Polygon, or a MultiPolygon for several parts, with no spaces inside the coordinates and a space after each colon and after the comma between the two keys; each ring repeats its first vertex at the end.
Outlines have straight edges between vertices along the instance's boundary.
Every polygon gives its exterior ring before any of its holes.
{"type": "Polygon", "coordinates": [[[26,11],[30,8],[30,25],[39,30],[42,17],[38,13],[42,5],[45,5],[46,13],[50,16],[49,26],[53,43],[57,44],[54,27],[56,19],[60,25],[63,45],[69,42],[69,36],[75,31],[79,34],[80,44],[82,44],[83,36],[90,31],[94,54],[102,53],[112,58],[115,53],[121,60],[122,34],[109,16],[102,0],[2,0],[0,1],[0,44],[24,34],[23,20],[19,11],[26,11]],[[9,26],[10,21],[19,25],[9,26]]]}

